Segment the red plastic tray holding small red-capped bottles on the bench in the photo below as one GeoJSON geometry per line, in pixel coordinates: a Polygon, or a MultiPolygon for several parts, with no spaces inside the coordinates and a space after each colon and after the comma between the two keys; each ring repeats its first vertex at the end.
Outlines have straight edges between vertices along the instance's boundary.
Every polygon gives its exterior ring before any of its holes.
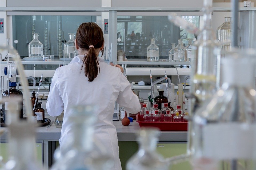
{"type": "Polygon", "coordinates": [[[144,122],[140,121],[140,115],[136,115],[136,122],[140,127],[157,127],[160,130],[187,131],[187,122],[144,122]]]}

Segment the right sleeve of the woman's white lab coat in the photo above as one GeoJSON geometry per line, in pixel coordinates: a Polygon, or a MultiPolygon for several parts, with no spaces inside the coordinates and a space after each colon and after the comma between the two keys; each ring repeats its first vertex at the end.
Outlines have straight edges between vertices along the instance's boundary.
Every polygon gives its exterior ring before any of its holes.
{"type": "Polygon", "coordinates": [[[120,72],[120,92],[117,97],[117,103],[124,107],[129,113],[138,113],[141,109],[138,96],[131,90],[131,84],[120,72]]]}

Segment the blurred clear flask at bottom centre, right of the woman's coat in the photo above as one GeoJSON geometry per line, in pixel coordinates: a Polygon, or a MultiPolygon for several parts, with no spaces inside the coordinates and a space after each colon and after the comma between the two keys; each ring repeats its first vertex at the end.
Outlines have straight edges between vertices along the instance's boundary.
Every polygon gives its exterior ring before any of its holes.
{"type": "Polygon", "coordinates": [[[139,150],[128,160],[127,170],[167,170],[169,165],[162,155],[156,151],[160,132],[157,128],[141,128],[137,133],[139,150]]]}

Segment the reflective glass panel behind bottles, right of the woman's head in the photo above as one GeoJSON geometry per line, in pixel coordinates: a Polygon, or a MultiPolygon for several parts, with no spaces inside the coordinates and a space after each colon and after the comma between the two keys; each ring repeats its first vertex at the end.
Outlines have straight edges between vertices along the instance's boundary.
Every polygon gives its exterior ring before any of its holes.
{"type": "MultiPolygon", "coordinates": [[[[199,16],[181,16],[199,28],[199,16]]],[[[125,53],[127,59],[147,59],[147,47],[150,39],[155,39],[159,47],[159,59],[168,59],[171,43],[178,45],[178,39],[183,39],[187,46],[187,38],[195,35],[188,33],[184,28],[177,27],[169,22],[167,16],[118,16],[117,32],[122,40],[117,43],[117,50],[123,50],[123,29],[126,29],[125,53]]]]}

